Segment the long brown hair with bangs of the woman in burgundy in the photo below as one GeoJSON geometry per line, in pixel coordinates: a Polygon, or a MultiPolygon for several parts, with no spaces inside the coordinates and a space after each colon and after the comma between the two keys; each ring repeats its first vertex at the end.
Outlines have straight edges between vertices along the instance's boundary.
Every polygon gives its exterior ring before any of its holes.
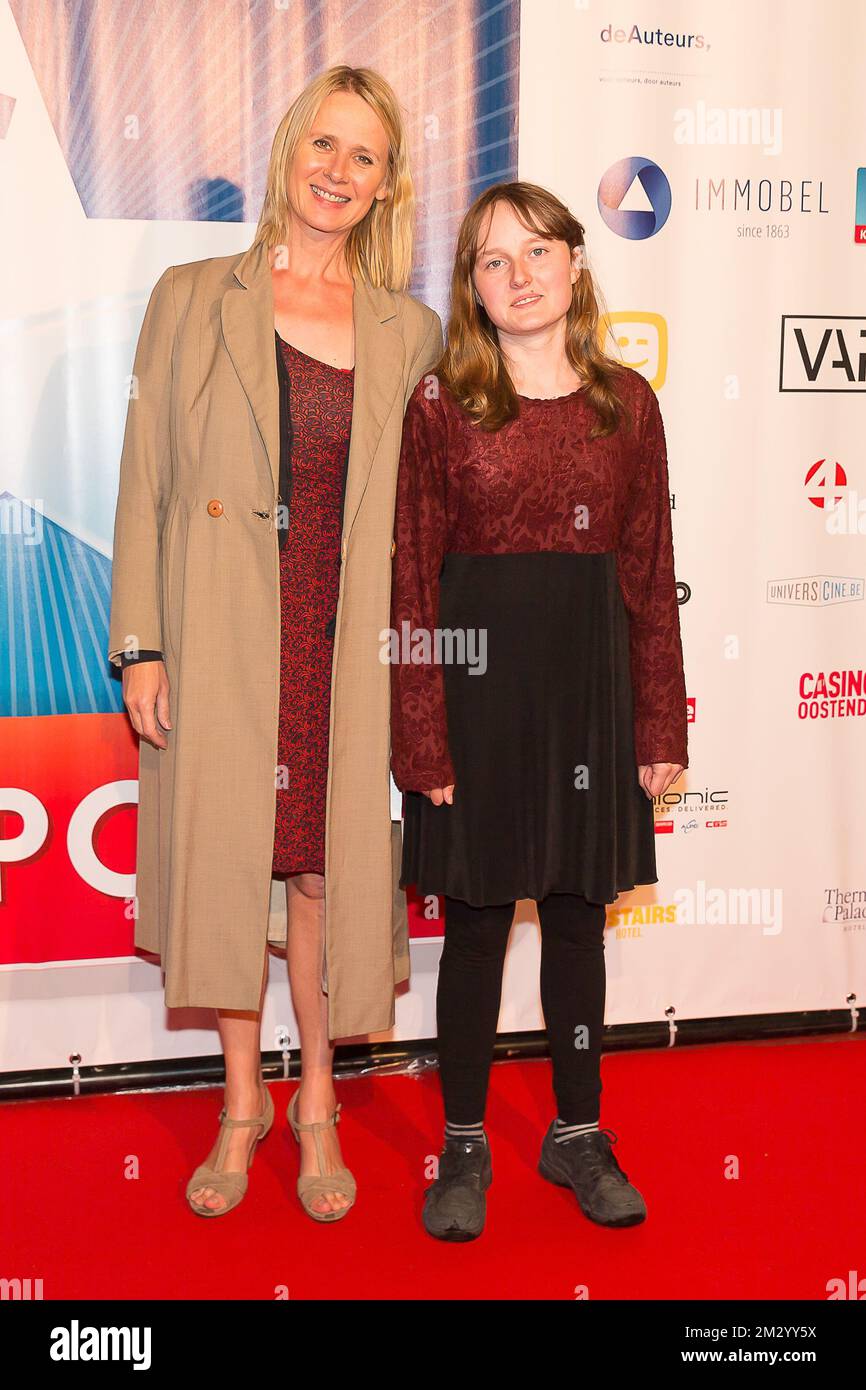
{"type": "Polygon", "coordinates": [[[466,213],[455,252],[448,343],[434,373],[481,430],[499,430],[520,414],[520,398],[509,375],[499,335],[484,306],[475,300],[473,284],[482,227],[499,202],[509,203],[528,231],[563,240],[570,252],[584,246],[584,265],[566,314],[566,356],[581,377],[587,399],[598,414],[591,436],[613,434],[630,417],[616,391],[617,379],[628,368],[599,346],[599,307],[603,302],[587,265],[584,228],[564,203],[538,183],[493,183],[466,213]]]}

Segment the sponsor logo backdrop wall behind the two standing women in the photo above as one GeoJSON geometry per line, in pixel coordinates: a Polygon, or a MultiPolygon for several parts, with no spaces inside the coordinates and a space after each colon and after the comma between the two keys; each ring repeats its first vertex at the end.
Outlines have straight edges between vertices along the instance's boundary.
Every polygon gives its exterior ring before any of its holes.
{"type": "MultiPolygon", "coordinates": [[[[3,0],[0,1070],[218,1051],[132,948],[136,746],[106,659],[128,374],[161,271],[249,246],[272,132],[338,61],[405,107],[413,292],[445,318],[466,206],[548,185],[662,404],[691,767],[656,805],[659,883],[609,909],[607,1020],[855,1008],[866,7],[3,0]]],[[[441,931],[413,898],[396,1037],[435,1033],[441,931]]],[[[537,983],[527,902],[502,1029],[542,1026],[537,983]]],[[[296,1044],[272,955],[263,1045],[296,1044]]]]}

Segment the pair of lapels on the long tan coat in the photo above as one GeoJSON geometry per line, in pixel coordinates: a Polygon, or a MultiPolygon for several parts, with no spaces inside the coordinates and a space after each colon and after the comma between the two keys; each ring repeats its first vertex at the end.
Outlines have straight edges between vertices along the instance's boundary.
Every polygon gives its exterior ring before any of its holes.
{"type": "MultiPolygon", "coordinates": [[[[220,302],[222,339],[250,402],[279,492],[279,381],[274,352],[274,296],[267,249],[250,246],[232,267],[235,284],[220,302]]],[[[405,348],[388,289],[354,277],[354,395],[343,539],[349,538],[385,421],[403,379],[405,348]]]]}

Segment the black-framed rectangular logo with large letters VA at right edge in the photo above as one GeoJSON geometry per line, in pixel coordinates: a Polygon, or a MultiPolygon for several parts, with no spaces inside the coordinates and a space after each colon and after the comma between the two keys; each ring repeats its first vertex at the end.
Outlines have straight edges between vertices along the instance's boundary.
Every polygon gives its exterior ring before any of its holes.
{"type": "Polygon", "coordinates": [[[862,314],[783,314],[780,391],[866,391],[862,314]]]}

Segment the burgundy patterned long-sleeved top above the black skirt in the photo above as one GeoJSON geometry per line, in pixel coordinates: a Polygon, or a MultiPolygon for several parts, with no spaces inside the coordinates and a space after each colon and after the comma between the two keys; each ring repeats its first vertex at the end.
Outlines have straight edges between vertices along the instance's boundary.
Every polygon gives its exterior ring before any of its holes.
{"type": "MultiPolygon", "coordinates": [[[[406,410],[395,510],[391,624],[432,631],[446,552],[614,552],[628,613],[635,759],[688,766],[664,428],[656,395],[628,370],[632,428],[589,439],[582,391],[520,398],[520,416],[478,430],[435,377],[406,410]]],[[[446,787],[441,664],[395,663],[392,773],[400,790],[446,787]]]]}

